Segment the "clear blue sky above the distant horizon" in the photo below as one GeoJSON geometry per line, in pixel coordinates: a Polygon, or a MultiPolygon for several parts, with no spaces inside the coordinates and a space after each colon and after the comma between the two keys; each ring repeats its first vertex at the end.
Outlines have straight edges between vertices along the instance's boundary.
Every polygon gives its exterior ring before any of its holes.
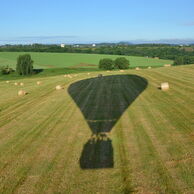
{"type": "Polygon", "coordinates": [[[194,38],[194,0],[0,0],[0,43],[194,38]]]}

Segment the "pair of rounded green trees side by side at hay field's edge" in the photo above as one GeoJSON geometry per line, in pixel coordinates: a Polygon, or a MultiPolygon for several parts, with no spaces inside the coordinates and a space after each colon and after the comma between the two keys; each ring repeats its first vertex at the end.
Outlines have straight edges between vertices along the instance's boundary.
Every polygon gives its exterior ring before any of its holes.
{"type": "Polygon", "coordinates": [[[112,70],[112,69],[128,69],[129,60],[125,57],[118,57],[115,60],[104,58],[99,61],[99,69],[112,70]]]}

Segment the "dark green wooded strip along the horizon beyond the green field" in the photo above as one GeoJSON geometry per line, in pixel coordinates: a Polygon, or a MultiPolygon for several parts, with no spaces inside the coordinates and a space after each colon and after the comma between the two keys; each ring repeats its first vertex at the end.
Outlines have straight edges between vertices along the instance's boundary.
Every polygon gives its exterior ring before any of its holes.
{"type": "MultiPolygon", "coordinates": [[[[4,45],[0,52],[56,52],[56,53],[91,53],[126,56],[159,57],[160,59],[176,60],[177,57],[187,57],[185,62],[194,63],[194,46],[178,46],[165,44],[99,44],[96,47],[89,45],[4,45]]],[[[184,60],[183,60],[184,61],[184,60]]]]}

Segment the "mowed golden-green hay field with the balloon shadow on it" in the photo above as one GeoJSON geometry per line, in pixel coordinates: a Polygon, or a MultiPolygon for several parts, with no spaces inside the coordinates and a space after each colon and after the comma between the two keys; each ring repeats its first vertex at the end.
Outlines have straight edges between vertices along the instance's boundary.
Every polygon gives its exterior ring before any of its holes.
{"type": "Polygon", "coordinates": [[[0,193],[194,193],[194,65],[102,74],[0,82],[0,193]]]}

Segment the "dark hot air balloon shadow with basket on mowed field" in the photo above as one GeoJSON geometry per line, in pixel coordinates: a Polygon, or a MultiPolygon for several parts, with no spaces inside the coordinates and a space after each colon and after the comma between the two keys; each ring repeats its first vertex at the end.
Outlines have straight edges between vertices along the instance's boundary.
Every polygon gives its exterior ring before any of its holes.
{"type": "Polygon", "coordinates": [[[137,75],[110,75],[81,80],[69,86],[68,93],[92,132],[79,159],[82,169],[114,167],[109,132],[147,84],[145,78],[137,75]]]}

